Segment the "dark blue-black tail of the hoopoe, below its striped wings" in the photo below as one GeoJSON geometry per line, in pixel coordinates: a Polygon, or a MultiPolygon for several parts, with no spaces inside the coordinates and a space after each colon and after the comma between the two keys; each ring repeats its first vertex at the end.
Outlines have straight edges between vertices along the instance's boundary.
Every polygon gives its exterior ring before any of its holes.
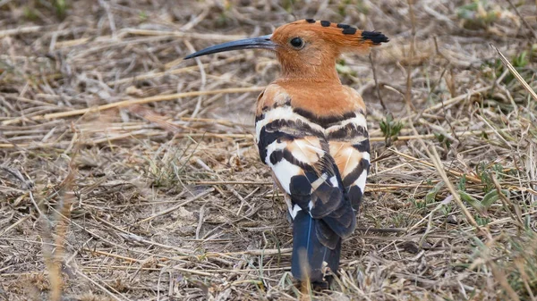
{"type": "Polygon", "coordinates": [[[313,219],[310,213],[303,210],[296,214],[291,265],[294,279],[309,280],[311,283],[325,282],[323,266],[328,266],[336,273],[340,254],[341,238],[323,220],[313,219]],[[325,242],[324,245],[320,238],[325,242]]]}

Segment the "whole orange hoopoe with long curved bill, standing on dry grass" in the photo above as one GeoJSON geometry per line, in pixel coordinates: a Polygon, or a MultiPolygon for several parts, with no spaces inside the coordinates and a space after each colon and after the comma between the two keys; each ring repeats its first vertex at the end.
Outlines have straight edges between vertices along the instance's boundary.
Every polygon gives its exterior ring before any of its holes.
{"type": "Polygon", "coordinates": [[[365,104],[341,84],[337,57],[383,42],[388,38],[380,32],[306,19],[185,57],[250,48],[276,53],[282,73],[258,97],[255,137],[293,220],[297,280],[327,283],[329,273],[337,273],[341,242],[356,227],[370,169],[365,104]]]}

